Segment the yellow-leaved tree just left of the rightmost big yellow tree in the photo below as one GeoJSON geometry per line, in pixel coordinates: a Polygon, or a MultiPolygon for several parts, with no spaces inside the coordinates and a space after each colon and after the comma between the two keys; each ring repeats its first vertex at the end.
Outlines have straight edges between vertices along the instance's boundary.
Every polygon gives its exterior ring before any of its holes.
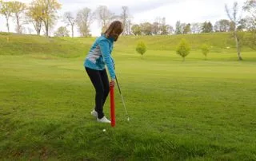
{"type": "Polygon", "coordinates": [[[26,12],[26,18],[28,22],[31,22],[33,24],[34,29],[38,35],[40,35],[42,29],[41,14],[41,6],[38,6],[35,1],[31,2],[26,12]]]}

